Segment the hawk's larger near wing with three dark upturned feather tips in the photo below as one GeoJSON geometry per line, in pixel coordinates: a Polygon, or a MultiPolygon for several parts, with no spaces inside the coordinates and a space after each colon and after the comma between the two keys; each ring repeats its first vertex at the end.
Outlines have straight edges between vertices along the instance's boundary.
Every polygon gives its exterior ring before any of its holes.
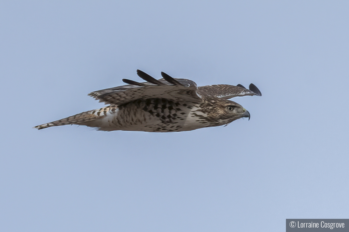
{"type": "Polygon", "coordinates": [[[140,78],[146,82],[136,82],[122,79],[129,85],[102,89],[89,94],[105,104],[122,105],[137,99],[164,98],[172,101],[202,102],[201,96],[196,93],[196,83],[187,79],[174,79],[161,72],[163,79],[156,80],[150,75],[137,70],[140,78]]]}

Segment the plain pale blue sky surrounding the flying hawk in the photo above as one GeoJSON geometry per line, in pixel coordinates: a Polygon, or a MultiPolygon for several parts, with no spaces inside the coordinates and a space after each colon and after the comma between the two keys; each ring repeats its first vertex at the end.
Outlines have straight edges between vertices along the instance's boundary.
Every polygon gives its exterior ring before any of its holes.
{"type": "Polygon", "coordinates": [[[1,231],[284,231],[349,218],[348,1],[1,1],[1,231]],[[33,126],[140,81],[254,83],[227,127],[33,126]]]}

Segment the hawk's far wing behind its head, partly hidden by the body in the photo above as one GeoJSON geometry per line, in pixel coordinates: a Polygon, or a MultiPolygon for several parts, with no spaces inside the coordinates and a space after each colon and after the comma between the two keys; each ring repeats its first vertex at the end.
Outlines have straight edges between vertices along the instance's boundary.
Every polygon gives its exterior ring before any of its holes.
{"type": "Polygon", "coordinates": [[[219,97],[222,99],[230,99],[232,97],[242,96],[262,96],[259,89],[252,83],[249,86],[250,89],[246,89],[242,85],[209,85],[198,87],[198,93],[201,95],[208,95],[212,97],[219,97]]]}

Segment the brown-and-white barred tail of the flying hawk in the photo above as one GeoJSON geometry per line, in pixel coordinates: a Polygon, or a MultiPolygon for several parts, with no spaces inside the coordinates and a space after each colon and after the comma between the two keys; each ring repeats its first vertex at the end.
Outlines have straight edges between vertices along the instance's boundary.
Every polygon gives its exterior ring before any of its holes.
{"type": "Polygon", "coordinates": [[[64,126],[64,125],[72,125],[72,124],[83,125],[83,123],[88,122],[88,121],[102,119],[106,116],[106,114],[109,111],[115,112],[115,110],[116,110],[116,106],[110,105],[110,106],[103,107],[101,109],[90,110],[90,111],[82,112],[80,114],[75,114],[75,115],[70,116],[68,118],[45,123],[45,124],[42,124],[42,125],[39,125],[39,126],[36,126],[33,128],[41,130],[41,129],[44,129],[47,127],[55,127],[55,126],[64,126]]]}

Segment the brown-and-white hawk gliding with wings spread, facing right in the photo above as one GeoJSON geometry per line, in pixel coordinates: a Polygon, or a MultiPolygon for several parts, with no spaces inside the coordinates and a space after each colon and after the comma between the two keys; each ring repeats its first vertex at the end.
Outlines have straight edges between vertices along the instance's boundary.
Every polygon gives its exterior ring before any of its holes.
{"type": "Polygon", "coordinates": [[[172,78],[164,72],[159,80],[141,70],[137,74],[146,82],[122,79],[128,85],[89,94],[108,106],[34,128],[75,124],[104,131],[188,131],[228,125],[239,118],[250,120],[250,113],[244,107],[228,99],[262,96],[253,84],[249,89],[240,84],[197,87],[194,81],[172,78]]]}

